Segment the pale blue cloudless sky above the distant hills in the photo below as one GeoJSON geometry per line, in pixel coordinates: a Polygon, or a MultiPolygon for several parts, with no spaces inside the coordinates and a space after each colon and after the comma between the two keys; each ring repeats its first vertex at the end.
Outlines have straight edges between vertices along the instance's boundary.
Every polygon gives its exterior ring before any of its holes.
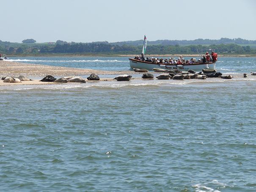
{"type": "Polygon", "coordinates": [[[0,0],[0,40],[256,40],[256,0],[0,0]]]}

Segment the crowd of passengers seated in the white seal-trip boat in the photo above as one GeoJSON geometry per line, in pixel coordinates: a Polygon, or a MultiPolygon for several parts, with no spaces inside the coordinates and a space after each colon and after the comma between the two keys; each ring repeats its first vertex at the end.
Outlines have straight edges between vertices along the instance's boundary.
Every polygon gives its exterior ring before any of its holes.
{"type": "Polygon", "coordinates": [[[150,62],[150,63],[163,63],[163,64],[194,64],[194,63],[209,63],[212,61],[217,61],[217,53],[213,52],[211,54],[209,54],[208,52],[205,53],[205,55],[203,55],[203,57],[201,59],[196,60],[195,58],[191,58],[190,60],[185,60],[182,55],[179,56],[179,58],[176,60],[175,58],[154,58],[154,57],[146,57],[143,53],[141,53],[141,55],[137,55],[134,59],[136,60],[142,60],[142,61],[146,61],[146,62],[150,62]]]}

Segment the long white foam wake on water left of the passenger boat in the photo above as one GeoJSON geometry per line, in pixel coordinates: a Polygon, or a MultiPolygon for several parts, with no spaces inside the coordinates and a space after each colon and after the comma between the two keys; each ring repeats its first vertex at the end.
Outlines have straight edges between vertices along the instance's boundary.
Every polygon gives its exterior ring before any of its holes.
{"type": "Polygon", "coordinates": [[[129,62],[129,60],[30,60],[30,59],[9,59],[7,61],[25,62],[129,62]]]}

